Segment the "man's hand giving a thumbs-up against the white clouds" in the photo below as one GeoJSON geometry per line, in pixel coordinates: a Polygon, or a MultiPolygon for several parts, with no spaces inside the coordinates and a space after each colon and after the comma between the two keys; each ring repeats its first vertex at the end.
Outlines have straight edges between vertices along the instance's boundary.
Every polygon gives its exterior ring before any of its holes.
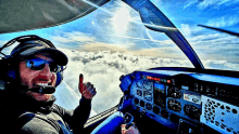
{"type": "Polygon", "coordinates": [[[97,94],[96,88],[93,88],[93,84],[91,84],[90,82],[83,83],[83,80],[84,80],[84,77],[80,73],[79,75],[79,92],[85,98],[91,99],[97,94]]]}

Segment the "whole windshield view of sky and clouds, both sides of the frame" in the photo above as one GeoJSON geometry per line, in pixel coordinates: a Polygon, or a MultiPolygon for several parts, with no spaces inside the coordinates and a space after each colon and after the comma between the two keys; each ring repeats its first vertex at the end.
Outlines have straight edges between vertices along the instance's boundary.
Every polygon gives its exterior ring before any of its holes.
{"type": "MultiPolygon", "coordinates": [[[[238,38],[197,26],[204,24],[231,30],[238,26],[238,2],[214,1],[152,0],[186,37],[205,68],[239,70],[238,38]]],[[[64,25],[1,35],[0,41],[3,44],[23,35],[51,40],[68,56],[64,80],[55,93],[61,97],[58,103],[68,109],[78,105],[75,98],[80,98],[79,73],[84,75],[84,81],[97,88],[92,109],[99,113],[120,103],[122,75],[153,67],[193,68],[165,34],[146,28],[139,13],[120,0],[110,1],[91,14],[64,25]]]]}

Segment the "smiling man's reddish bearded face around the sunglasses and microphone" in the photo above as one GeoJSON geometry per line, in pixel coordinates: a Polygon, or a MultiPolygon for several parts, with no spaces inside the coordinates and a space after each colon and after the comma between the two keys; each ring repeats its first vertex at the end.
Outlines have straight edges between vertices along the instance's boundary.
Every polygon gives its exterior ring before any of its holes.
{"type": "MultiPolygon", "coordinates": [[[[35,55],[35,57],[46,59],[49,62],[52,61],[43,54],[35,55]]],[[[56,82],[56,75],[55,72],[50,71],[49,64],[46,64],[43,69],[41,70],[33,70],[28,68],[26,66],[26,62],[23,61],[20,63],[20,76],[22,79],[22,84],[27,85],[28,88],[37,88],[37,85],[39,84],[48,84],[55,86],[56,82]]],[[[52,96],[52,94],[34,93],[30,91],[27,91],[26,94],[39,102],[47,102],[52,96]]]]}

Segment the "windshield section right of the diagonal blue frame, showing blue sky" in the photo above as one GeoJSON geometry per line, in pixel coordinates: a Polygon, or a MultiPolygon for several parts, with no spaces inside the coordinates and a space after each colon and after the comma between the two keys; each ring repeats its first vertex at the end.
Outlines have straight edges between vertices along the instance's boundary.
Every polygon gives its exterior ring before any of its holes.
{"type": "Polygon", "coordinates": [[[151,2],[181,31],[205,68],[239,70],[239,38],[197,26],[205,25],[238,32],[238,0],[151,0],[151,2]]]}

